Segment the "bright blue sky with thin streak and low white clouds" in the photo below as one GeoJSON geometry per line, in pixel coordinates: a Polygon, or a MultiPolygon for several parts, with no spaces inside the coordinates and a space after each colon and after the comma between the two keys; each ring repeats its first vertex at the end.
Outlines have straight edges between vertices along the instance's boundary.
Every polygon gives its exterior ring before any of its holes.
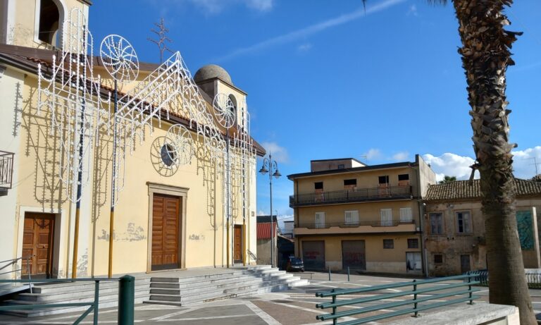
{"type": "MultiPolygon", "coordinates": [[[[541,163],[541,1],[507,11],[524,35],[508,70],[515,173],[541,163]]],[[[164,18],[192,74],[223,66],[248,93],[252,135],[278,160],[273,209],[292,216],[285,176],[311,159],[354,157],[368,164],[428,160],[435,172],[466,178],[472,163],[469,106],[452,4],[369,0],[94,1],[90,30],[132,42],[140,61],[159,61],[147,41],[164,18]]],[[[258,161],[258,168],[261,161],[258,161]]],[[[541,171],[541,164],[537,166],[541,171]]],[[[269,214],[268,176],[258,178],[258,213],[269,214]]]]}

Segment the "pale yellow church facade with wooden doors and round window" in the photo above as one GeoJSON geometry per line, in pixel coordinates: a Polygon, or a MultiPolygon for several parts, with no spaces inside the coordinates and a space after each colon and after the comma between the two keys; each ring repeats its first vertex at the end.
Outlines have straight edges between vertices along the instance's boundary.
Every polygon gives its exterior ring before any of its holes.
{"type": "Polygon", "coordinates": [[[78,62],[62,49],[66,24],[83,27],[75,20],[88,20],[90,4],[0,1],[0,150],[13,153],[11,188],[0,197],[0,260],[22,257],[4,277],[70,277],[74,261],[78,277],[106,275],[111,205],[113,274],[255,264],[255,165],[264,150],[249,137],[247,94],[218,66],[194,81],[175,54],[162,66],[139,63],[114,114],[114,82],[96,56],[101,40],[78,62]],[[62,84],[55,67],[85,71],[93,91],[62,84]],[[216,94],[229,99],[227,128],[216,94]]]}

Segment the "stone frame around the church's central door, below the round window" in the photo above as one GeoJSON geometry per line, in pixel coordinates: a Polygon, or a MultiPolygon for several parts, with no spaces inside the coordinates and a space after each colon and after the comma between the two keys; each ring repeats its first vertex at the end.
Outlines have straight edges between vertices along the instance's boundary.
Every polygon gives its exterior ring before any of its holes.
{"type": "Polygon", "coordinates": [[[147,229],[147,273],[155,272],[152,271],[152,205],[154,204],[154,194],[158,195],[170,195],[173,197],[178,197],[180,200],[180,209],[178,211],[178,221],[180,231],[178,232],[178,268],[186,268],[186,211],[187,211],[187,200],[188,200],[188,190],[189,188],[180,188],[176,186],[170,186],[165,184],[151,183],[147,182],[149,187],[149,226],[147,229]]]}

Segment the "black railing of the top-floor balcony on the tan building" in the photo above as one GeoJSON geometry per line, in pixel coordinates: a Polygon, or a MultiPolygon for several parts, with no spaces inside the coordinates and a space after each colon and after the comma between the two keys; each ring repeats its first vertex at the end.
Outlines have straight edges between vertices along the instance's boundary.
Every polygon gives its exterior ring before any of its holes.
{"type": "Polygon", "coordinates": [[[356,188],[331,192],[312,192],[290,195],[290,207],[316,204],[337,204],[377,200],[406,199],[413,196],[411,186],[388,186],[386,188],[356,188]]]}

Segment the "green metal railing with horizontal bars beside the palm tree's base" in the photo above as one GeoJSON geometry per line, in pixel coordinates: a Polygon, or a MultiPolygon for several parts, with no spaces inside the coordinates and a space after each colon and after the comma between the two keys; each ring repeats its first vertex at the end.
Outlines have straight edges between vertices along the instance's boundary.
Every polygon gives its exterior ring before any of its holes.
{"type": "Polygon", "coordinates": [[[446,278],[433,278],[430,280],[423,280],[423,281],[413,280],[411,282],[399,282],[399,283],[386,284],[382,286],[371,286],[371,287],[359,288],[359,289],[332,289],[330,291],[319,292],[319,293],[316,293],[316,297],[319,297],[319,298],[330,297],[332,298],[332,301],[317,304],[316,307],[321,308],[321,309],[332,308],[332,313],[318,315],[316,319],[319,319],[321,321],[328,321],[332,319],[332,324],[338,324],[338,319],[342,317],[365,314],[367,312],[378,312],[378,311],[383,311],[383,309],[389,309],[389,308],[394,308],[394,307],[408,306],[405,309],[399,309],[397,311],[385,312],[383,314],[377,314],[371,317],[363,317],[363,318],[354,319],[350,321],[340,322],[340,325],[366,324],[370,321],[377,321],[379,319],[386,319],[390,317],[396,317],[396,316],[400,316],[404,314],[411,314],[411,313],[413,313],[414,316],[417,317],[418,312],[421,312],[423,310],[443,307],[447,305],[453,305],[459,302],[468,301],[469,304],[473,304],[473,300],[480,298],[477,295],[473,295],[473,293],[475,293],[476,291],[479,291],[479,289],[472,288],[472,286],[479,284],[479,281],[475,281],[474,279],[475,276],[476,274],[467,274],[467,275],[461,275],[461,276],[448,276],[446,278]],[[465,280],[466,282],[460,281],[457,283],[444,283],[445,281],[454,281],[454,280],[465,280]],[[432,283],[437,283],[438,286],[425,287],[425,285],[429,285],[432,283]],[[423,286],[423,288],[419,288],[420,286],[423,286]],[[374,292],[378,290],[404,288],[404,287],[412,287],[412,290],[404,290],[404,291],[399,291],[397,293],[383,293],[380,295],[373,295],[367,298],[356,298],[356,299],[340,300],[340,301],[337,300],[337,297],[339,297],[340,295],[353,295],[356,293],[369,293],[369,292],[374,292]],[[468,287],[468,288],[467,290],[466,289],[452,290],[452,289],[461,288],[461,287],[468,287]],[[443,293],[423,295],[423,297],[418,297],[421,294],[434,293],[436,291],[443,291],[443,290],[445,290],[445,292],[443,293]],[[398,302],[383,303],[383,304],[378,304],[378,305],[373,305],[373,306],[368,306],[368,307],[361,307],[361,308],[357,307],[356,309],[343,310],[340,312],[338,311],[339,307],[359,305],[365,302],[377,302],[381,300],[387,300],[391,298],[405,297],[405,296],[413,296],[413,299],[407,299],[407,300],[402,300],[398,302]],[[454,298],[456,296],[459,296],[459,298],[454,298]],[[442,298],[452,298],[452,297],[453,299],[450,299],[450,300],[428,303],[430,302],[430,300],[440,300],[442,298]],[[422,302],[427,302],[428,305],[421,305],[422,302]]]}

